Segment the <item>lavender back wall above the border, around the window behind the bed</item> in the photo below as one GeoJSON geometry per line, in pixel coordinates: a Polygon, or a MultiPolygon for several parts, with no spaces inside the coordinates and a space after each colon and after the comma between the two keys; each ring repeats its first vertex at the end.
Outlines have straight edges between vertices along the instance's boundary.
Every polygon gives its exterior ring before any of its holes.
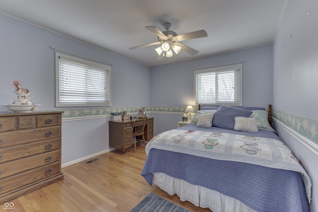
{"type": "Polygon", "coordinates": [[[151,104],[195,105],[193,69],[240,61],[245,61],[243,106],[267,107],[272,103],[272,45],[152,67],[151,104]]]}

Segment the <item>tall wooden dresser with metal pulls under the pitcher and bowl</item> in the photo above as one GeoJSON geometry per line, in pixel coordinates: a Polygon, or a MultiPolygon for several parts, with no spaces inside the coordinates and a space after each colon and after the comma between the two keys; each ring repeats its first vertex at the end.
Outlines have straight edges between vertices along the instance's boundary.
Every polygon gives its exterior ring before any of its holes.
{"type": "Polygon", "coordinates": [[[0,205],[63,179],[61,113],[0,113],[0,205]]]}

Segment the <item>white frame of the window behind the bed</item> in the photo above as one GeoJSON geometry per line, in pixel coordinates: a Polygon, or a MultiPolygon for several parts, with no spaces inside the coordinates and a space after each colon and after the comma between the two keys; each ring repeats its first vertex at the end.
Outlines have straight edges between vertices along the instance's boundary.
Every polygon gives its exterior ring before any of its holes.
{"type": "Polygon", "coordinates": [[[217,68],[206,68],[206,69],[200,69],[194,71],[194,102],[196,104],[200,105],[213,105],[213,106],[220,106],[220,105],[229,105],[229,106],[242,106],[242,96],[243,96],[243,89],[242,89],[242,64],[232,65],[232,66],[222,66],[217,68]],[[222,72],[222,71],[229,71],[229,70],[238,70],[239,71],[239,85],[237,86],[239,88],[238,92],[238,98],[239,101],[236,103],[236,101],[216,101],[216,102],[198,102],[197,101],[197,74],[199,73],[208,73],[208,72],[222,72]]]}

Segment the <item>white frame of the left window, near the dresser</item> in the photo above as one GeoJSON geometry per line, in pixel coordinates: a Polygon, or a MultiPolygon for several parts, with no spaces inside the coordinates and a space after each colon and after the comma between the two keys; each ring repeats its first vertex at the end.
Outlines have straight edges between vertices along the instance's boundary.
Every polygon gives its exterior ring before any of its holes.
{"type": "MultiPolygon", "coordinates": [[[[106,79],[107,80],[107,79],[106,79]]],[[[56,86],[56,100],[55,100],[55,106],[56,107],[105,107],[105,106],[111,106],[111,66],[105,65],[101,63],[96,63],[88,59],[82,59],[79,57],[73,57],[70,55],[62,54],[59,52],[55,52],[55,86],[56,86]],[[97,68],[100,70],[108,71],[108,103],[93,103],[93,102],[81,102],[81,103],[63,103],[60,102],[60,57],[62,57],[65,61],[69,60],[70,62],[79,63],[83,66],[89,66],[93,68],[97,68]]],[[[106,83],[107,84],[107,83],[106,83]]],[[[107,95],[107,94],[106,94],[107,95]]]]}

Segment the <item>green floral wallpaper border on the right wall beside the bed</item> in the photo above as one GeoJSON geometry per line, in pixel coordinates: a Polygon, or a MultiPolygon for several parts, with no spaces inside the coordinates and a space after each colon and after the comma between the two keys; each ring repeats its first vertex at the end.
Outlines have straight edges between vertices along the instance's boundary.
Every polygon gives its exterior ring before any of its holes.
{"type": "Polygon", "coordinates": [[[318,144],[318,120],[273,110],[273,117],[305,138],[318,144]]]}

